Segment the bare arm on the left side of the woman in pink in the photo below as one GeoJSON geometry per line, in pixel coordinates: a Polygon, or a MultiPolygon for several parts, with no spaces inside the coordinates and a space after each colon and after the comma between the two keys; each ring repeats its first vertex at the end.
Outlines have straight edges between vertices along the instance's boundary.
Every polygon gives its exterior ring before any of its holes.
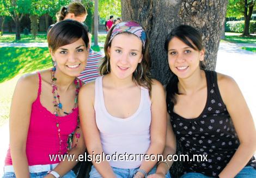
{"type": "Polygon", "coordinates": [[[10,153],[16,177],[30,177],[26,143],[32,103],[38,91],[37,74],[19,79],[10,108],[10,153]]]}

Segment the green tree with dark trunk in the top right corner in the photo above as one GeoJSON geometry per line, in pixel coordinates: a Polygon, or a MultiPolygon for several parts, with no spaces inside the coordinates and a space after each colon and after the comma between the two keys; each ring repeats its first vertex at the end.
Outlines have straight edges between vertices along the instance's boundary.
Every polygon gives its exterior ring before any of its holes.
{"type": "Polygon", "coordinates": [[[249,26],[252,17],[253,8],[256,0],[229,0],[227,7],[227,17],[244,17],[245,28],[243,28],[243,36],[249,36],[249,26]]]}

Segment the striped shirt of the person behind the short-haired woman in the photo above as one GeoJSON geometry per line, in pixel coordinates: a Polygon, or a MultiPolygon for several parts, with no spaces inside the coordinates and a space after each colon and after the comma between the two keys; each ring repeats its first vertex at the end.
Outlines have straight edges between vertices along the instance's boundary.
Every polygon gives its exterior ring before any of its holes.
{"type": "Polygon", "coordinates": [[[99,77],[99,66],[102,58],[103,56],[101,53],[93,51],[92,48],[90,48],[86,68],[81,72],[78,78],[84,83],[88,83],[99,77]]]}

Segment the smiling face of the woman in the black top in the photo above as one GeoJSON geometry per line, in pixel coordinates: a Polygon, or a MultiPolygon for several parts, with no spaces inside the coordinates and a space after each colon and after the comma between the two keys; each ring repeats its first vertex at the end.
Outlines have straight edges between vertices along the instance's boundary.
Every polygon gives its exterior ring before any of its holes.
{"type": "MultiPolygon", "coordinates": [[[[191,42],[191,44],[193,43],[191,42]]],[[[176,37],[169,41],[169,67],[170,70],[172,70],[172,72],[179,78],[190,77],[194,71],[200,70],[199,63],[203,60],[204,50],[194,50],[192,47],[188,46],[176,37]]]]}

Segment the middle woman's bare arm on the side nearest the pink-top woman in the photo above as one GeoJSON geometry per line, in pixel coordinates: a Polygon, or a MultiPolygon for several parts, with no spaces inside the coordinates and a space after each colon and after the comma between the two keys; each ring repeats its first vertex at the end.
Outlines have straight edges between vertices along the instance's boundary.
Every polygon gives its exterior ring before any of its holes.
{"type": "MultiPolygon", "coordinates": [[[[94,111],[94,96],[95,96],[95,83],[84,85],[79,93],[79,114],[84,140],[90,155],[101,155],[102,158],[102,145],[100,140],[100,133],[96,125],[95,111],[94,111]]],[[[114,172],[107,161],[95,162],[93,164],[102,177],[115,177],[114,172]]]]}

